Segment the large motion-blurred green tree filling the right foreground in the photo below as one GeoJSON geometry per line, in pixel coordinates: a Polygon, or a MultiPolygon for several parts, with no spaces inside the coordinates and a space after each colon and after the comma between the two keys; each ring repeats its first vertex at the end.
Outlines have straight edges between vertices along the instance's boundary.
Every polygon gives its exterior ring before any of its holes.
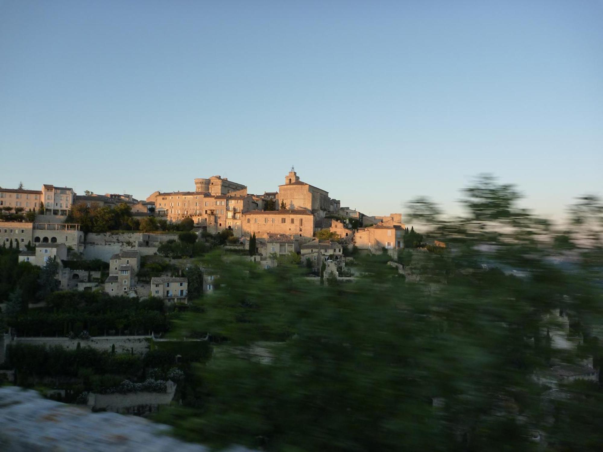
{"type": "Polygon", "coordinates": [[[161,421],[188,439],[267,451],[530,451],[529,430],[547,450],[600,450],[596,382],[549,397],[534,377],[596,348],[586,338],[601,327],[601,243],[566,271],[551,262],[548,226],[509,187],[475,187],[466,215],[430,225],[454,253],[414,253],[417,282],[387,255],[358,256],[358,280],[321,287],[292,267],[212,261],[219,287],[178,328],[222,353],[196,369],[202,409],[185,402],[161,421]],[[562,307],[584,339],[576,350],[549,347],[546,316],[562,307]],[[271,341],[262,362],[259,341],[271,341]]]}

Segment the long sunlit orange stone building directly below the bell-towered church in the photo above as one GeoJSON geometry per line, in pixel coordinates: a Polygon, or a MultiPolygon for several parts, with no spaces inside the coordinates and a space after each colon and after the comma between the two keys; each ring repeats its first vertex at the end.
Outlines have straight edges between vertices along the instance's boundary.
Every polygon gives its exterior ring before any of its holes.
{"type": "Polygon", "coordinates": [[[256,237],[268,234],[293,234],[297,237],[312,237],[314,216],[308,210],[252,210],[242,213],[245,236],[256,233],[256,237]]]}

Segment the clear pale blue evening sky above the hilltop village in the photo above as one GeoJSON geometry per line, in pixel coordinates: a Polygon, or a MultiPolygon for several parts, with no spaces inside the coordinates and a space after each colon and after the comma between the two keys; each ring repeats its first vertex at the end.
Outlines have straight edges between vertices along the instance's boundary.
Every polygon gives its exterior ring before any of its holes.
{"type": "Polygon", "coordinates": [[[0,186],[603,195],[603,1],[0,0],[0,186]]]}

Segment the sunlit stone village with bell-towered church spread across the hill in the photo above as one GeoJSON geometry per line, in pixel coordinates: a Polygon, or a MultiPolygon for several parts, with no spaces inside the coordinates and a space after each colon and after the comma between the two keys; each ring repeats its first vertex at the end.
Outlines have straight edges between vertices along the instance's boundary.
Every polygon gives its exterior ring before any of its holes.
{"type": "MultiPolygon", "coordinates": [[[[344,278],[352,277],[346,268],[352,250],[385,251],[395,258],[408,234],[401,213],[368,216],[341,207],[326,190],[301,181],[294,168],[278,191],[262,195],[219,175],[197,178],[194,187],[156,191],[144,200],[78,195],[52,184],[41,190],[0,188],[0,246],[19,250],[19,262],[55,262],[63,290],[186,304],[189,281],[182,269],[145,270],[157,254],[192,257],[178,248],[183,243],[198,247],[218,237],[227,251],[265,269],[287,259],[316,275],[344,278]]],[[[202,270],[201,292],[212,292],[213,275],[202,270]]]]}

